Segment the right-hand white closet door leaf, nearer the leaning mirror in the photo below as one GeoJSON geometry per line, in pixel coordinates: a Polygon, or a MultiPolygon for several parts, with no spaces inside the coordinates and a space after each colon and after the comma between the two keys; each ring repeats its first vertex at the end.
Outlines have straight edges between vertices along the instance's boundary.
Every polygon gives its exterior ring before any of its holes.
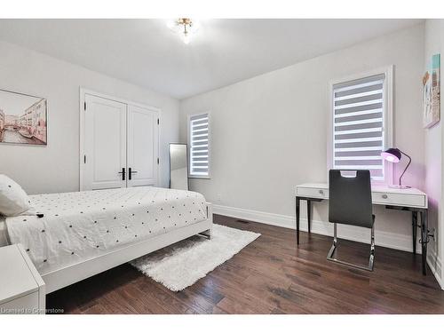
{"type": "Polygon", "coordinates": [[[128,186],[157,186],[159,112],[128,106],[128,186]]]}

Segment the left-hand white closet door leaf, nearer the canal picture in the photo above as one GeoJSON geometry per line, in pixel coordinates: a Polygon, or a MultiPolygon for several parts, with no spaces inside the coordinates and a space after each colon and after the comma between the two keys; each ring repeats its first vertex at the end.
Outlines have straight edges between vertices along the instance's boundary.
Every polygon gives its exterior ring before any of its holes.
{"type": "Polygon", "coordinates": [[[125,187],[127,106],[89,94],[85,102],[83,189],[125,187]]]}

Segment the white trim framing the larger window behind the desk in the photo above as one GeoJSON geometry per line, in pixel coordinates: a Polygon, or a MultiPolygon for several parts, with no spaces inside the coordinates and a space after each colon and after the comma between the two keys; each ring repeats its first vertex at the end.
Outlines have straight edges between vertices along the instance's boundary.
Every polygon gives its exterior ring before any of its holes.
{"type": "MultiPolygon", "coordinates": [[[[334,99],[333,99],[333,87],[338,83],[345,83],[348,81],[358,80],[363,77],[373,75],[385,75],[385,90],[384,90],[384,149],[393,147],[393,65],[386,67],[379,67],[369,71],[356,73],[341,77],[339,79],[333,79],[329,81],[329,107],[328,107],[328,138],[327,138],[327,178],[329,178],[329,170],[333,167],[333,112],[334,112],[334,99]]],[[[384,161],[384,181],[372,180],[372,185],[392,185],[394,178],[393,163],[384,161]]]]}

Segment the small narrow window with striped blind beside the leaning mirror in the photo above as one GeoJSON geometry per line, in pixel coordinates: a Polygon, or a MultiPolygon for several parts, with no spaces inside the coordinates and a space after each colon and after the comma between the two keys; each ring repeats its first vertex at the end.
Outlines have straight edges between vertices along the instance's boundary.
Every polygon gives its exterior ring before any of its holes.
{"type": "Polygon", "coordinates": [[[190,115],[188,122],[190,177],[210,177],[209,114],[190,115]]]}

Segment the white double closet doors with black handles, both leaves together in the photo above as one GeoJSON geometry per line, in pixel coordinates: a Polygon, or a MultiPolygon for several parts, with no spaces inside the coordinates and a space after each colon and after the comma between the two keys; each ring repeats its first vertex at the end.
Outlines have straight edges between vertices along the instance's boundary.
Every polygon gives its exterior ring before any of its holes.
{"type": "Polygon", "coordinates": [[[156,186],[159,111],[85,94],[83,190],[156,186]]]}

